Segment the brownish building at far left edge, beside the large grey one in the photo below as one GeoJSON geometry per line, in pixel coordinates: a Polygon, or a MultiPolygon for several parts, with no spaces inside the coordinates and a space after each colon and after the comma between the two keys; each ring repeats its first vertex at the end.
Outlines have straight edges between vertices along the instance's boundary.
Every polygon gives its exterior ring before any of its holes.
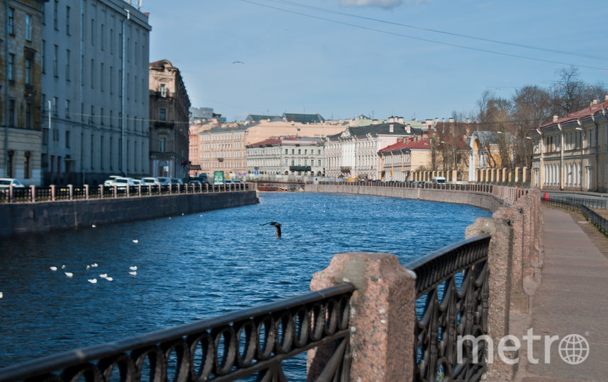
{"type": "Polygon", "coordinates": [[[40,40],[44,1],[0,8],[0,178],[41,185],[40,40]]]}

